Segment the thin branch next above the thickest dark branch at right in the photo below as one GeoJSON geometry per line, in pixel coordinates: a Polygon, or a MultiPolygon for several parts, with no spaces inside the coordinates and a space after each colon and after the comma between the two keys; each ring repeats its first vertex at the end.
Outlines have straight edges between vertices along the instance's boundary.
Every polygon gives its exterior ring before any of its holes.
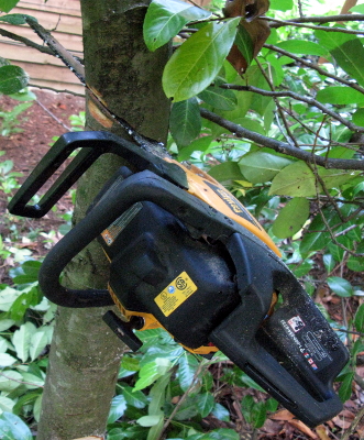
{"type": "Polygon", "coordinates": [[[348,129],[351,130],[351,131],[359,132],[359,133],[364,133],[364,127],[359,127],[359,125],[353,124],[350,121],[346,121],[339,113],[328,109],[322,103],[320,103],[319,101],[317,101],[316,99],[313,99],[311,97],[306,98],[306,97],[304,97],[301,95],[298,95],[298,94],[296,94],[294,91],[290,91],[290,90],[286,90],[286,91],[269,91],[269,90],[260,89],[260,88],[254,87],[254,86],[238,86],[238,85],[234,85],[234,84],[222,84],[220,87],[224,88],[224,89],[231,89],[231,90],[253,91],[255,94],[258,94],[258,95],[262,95],[262,96],[272,97],[272,98],[293,98],[293,99],[296,99],[297,101],[302,101],[302,102],[308,103],[309,106],[317,107],[319,110],[322,111],[322,113],[329,114],[330,117],[332,117],[337,121],[341,122],[343,125],[348,127],[348,129]]]}

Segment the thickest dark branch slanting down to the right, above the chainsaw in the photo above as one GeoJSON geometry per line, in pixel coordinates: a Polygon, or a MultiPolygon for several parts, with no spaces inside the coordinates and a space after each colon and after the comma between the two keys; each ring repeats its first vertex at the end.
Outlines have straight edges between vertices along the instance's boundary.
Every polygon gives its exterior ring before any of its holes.
{"type": "Polygon", "coordinates": [[[341,158],[327,158],[323,156],[318,156],[312,153],[306,152],[300,148],[296,148],[285,142],[279,142],[274,139],[264,136],[263,134],[255,133],[251,130],[244,129],[243,127],[235,124],[231,121],[228,121],[224,118],[219,117],[218,114],[201,108],[200,109],[201,117],[214,122],[216,124],[223,127],[229,130],[231,133],[234,133],[238,138],[244,138],[250,141],[257,143],[258,145],[266,146],[267,148],[272,148],[277,153],[286,154],[291,157],[299,158],[309,164],[317,164],[323,166],[324,168],[335,168],[335,169],[362,169],[364,170],[364,161],[362,160],[341,160],[341,158]]]}

